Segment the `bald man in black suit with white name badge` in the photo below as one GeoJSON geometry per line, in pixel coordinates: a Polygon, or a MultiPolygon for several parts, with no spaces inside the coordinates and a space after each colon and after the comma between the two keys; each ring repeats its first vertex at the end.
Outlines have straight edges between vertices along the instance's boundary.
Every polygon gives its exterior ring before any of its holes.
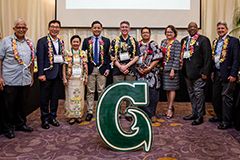
{"type": "Polygon", "coordinates": [[[209,39],[198,33],[195,22],[188,25],[189,36],[182,39],[181,65],[186,80],[192,114],[183,117],[193,120],[192,125],[203,123],[205,114],[204,88],[211,71],[211,43],[209,39]]]}

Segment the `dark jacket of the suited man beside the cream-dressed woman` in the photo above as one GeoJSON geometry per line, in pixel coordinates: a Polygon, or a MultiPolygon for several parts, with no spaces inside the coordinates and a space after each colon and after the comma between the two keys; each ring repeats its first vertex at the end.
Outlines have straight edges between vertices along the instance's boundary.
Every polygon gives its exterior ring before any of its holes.
{"type": "MultiPolygon", "coordinates": [[[[59,42],[59,54],[61,47],[59,42]]],[[[52,43],[53,53],[56,55],[56,50],[52,43]]],[[[48,57],[48,40],[47,36],[42,37],[37,42],[37,63],[38,63],[38,76],[45,75],[47,79],[55,79],[58,75],[62,78],[62,64],[53,63],[53,68],[44,71],[45,68],[50,67],[48,57]]]]}

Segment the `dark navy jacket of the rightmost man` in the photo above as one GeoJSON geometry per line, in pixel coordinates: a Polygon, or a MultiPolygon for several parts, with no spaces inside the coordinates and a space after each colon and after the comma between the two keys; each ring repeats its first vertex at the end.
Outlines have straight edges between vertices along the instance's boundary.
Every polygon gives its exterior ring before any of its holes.
{"type": "MultiPolygon", "coordinates": [[[[232,36],[229,37],[226,59],[220,63],[220,73],[223,81],[228,81],[229,76],[237,77],[239,68],[240,44],[239,40],[232,36]]],[[[217,47],[216,47],[217,48],[217,47]]],[[[214,64],[214,63],[213,63],[214,64]]],[[[214,70],[215,65],[213,65],[214,70]]]]}

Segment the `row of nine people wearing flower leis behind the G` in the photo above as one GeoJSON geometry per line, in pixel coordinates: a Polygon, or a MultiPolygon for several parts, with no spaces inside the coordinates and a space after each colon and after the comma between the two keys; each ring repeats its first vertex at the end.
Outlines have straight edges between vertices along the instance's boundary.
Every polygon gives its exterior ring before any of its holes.
{"type": "MultiPolygon", "coordinates": [[[[48,24],[48,35],[37,42],[37,47],[25,34],[27,24],[18,18],[14,34],[0,43],[0,90],[4,97],[3,133],[14,138],[15,131],[32,132],[26,124],[24,105],[33,84],[34,60],[37,58],[38,80],[40,82],[41,127],[60,126],[56,119],[61,83],[65,86],[65,109],[68,123],[81,123],[84,113],[86,86],[86,121],[94,113],[94,95],[100,95],[106,87],[111,72],[113,82],[143,80],[149,87],[149,104],[141,109],[154,122],[162,82],[167,93],[167,118],[174,116],[174,99],[180,88],[179,73],[186,80],[192,114],[183,117],[192,120],[192,125],[203,123],[205,114],[205,86],[213,81],[212,104],[216,113],[210,122],[219,122],[219,129],[232,125],[233,92],[237,83],[240,61],[240,44],[237,38],[228,35],[225,22],[217,24],[218,38],[212,47],[206,36],[199,34],[195,22],[188,24],[188,36],[177,40],[173,25],[165,28],[166,39],[160,46],[151,39],[151,29],[141,29],[141,40],[129,35],[130,23],[120,23],[120,35],[110,41],[101,35],[102,23],[91,24],[92,36],[85,38],[81,46],[79,35],[70,39],[71,48],[65,49],[59,38],[61,23],[52,20],[48,24]],[[160,69],[162,68],[162,69],[160,69]],[[162,78],[162,80],[161,80],[162,78]]],[[[126,100],[126,105],[131,102],[126,100]]],[[[124,114],[124,109],[122,109],[124,114]]],[[[125,115],[131,120],[131,115],[125,115]]]]}

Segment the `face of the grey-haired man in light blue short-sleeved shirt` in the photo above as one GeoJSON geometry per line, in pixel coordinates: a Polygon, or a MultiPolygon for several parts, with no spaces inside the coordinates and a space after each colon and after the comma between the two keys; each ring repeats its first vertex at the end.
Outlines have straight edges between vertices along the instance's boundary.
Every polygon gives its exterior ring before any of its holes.
{"type": "Polygon", "coordinates": [[[13,30],[18,39],[23,39],[28,30],[27,24],[25,23],[25,21],[18,21],[13,27],[13,30]]]}

